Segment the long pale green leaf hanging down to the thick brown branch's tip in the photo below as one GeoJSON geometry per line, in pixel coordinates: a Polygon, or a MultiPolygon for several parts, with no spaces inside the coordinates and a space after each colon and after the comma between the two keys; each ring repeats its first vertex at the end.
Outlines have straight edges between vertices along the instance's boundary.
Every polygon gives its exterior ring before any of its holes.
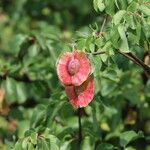
{"type": "Polygon", "coordinates": [[[123,52],[129,52],[128,41],[127,41],[127,37],[126,37],[125,29],[123,25],[118,26],[118,32],[121,38],[121,44],[120,44],[119,49],[123,52]]]}

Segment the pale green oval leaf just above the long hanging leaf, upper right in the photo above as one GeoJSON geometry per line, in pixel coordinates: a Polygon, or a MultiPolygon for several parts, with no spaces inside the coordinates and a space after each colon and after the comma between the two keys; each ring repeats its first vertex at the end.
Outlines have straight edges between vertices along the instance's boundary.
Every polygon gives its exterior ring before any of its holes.
{"type": "Polygon", "coordinates": [[[113,17],[113,22],[115,25],[118,25],[126,14],[125,10],[119,10],[113,17]]]}

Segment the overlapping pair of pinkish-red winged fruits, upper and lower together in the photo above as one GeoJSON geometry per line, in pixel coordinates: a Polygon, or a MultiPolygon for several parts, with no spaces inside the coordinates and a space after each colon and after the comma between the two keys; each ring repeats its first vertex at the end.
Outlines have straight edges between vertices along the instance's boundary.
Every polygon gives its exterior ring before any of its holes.
{"type": "Polygon", "coordinates": [[[56,64],[57,75],[65,86],[73,107],[86,107],[94,97],[94,78],[86,53],[75,50],[63,53],[56,64]]]}

